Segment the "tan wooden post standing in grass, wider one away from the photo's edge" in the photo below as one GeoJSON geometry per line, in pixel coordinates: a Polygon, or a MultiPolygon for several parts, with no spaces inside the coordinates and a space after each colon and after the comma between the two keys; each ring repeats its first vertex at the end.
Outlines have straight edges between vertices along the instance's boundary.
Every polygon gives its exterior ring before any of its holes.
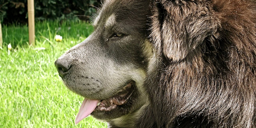
{"type": "Polygon", "coordinates": [[[29,44],[35,45],[35,9],[34,0],[28,0],[28,33],[29,44]]]}

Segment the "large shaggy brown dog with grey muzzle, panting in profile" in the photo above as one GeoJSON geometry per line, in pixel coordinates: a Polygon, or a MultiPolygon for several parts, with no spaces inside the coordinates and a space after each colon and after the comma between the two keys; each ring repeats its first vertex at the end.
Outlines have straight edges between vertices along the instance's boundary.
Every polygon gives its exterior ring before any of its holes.
{"type": "Polygon", "coordinates": [[[110,128],[255,128],[256,2],[104,0],[55,62],[110,128]]]}

